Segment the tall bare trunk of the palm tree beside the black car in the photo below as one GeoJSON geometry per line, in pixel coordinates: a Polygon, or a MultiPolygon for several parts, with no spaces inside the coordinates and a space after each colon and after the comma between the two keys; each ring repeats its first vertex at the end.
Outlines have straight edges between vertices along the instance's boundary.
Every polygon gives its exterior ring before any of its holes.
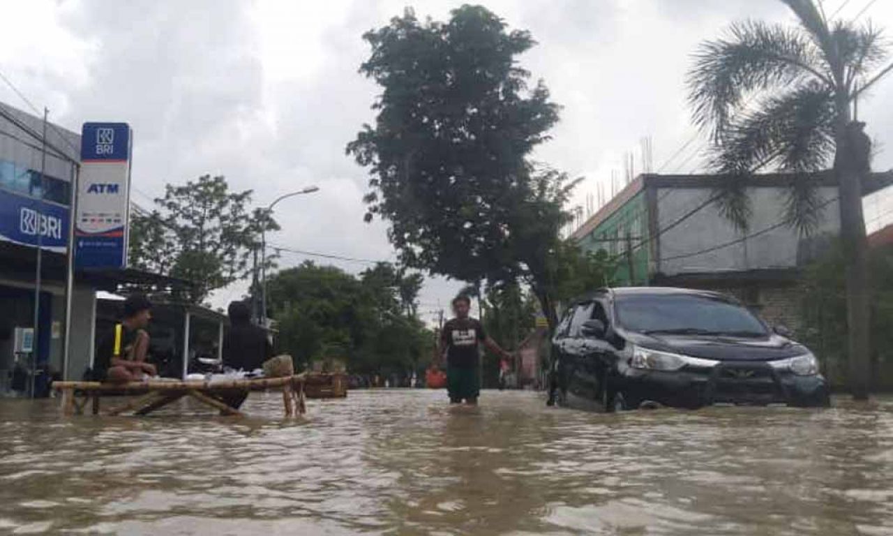
{"type": "Polygon", "coordinates": [[[838,180],[840,239],[847,263],[847,359],[853,398],[868,398],[871,389],[871,299],[868,240],[862,211],[862,179],[869,170],[868,143],[860,123],[838,121],[834,174],[838,180]]]}

